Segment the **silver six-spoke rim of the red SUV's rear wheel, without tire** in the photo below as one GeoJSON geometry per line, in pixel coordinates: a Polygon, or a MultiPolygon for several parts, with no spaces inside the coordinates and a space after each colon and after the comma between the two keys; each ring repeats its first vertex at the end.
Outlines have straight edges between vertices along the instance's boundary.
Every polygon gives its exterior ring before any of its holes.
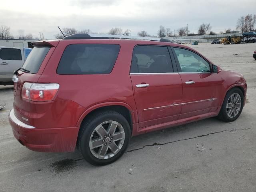
{"type": "Polygon", "coordinates": [[[90,151],[96,158],[108,159],[116,155],[124,144],[125,133],[116,121],[106,121],[98,125],[90,137],[90,151]]]}

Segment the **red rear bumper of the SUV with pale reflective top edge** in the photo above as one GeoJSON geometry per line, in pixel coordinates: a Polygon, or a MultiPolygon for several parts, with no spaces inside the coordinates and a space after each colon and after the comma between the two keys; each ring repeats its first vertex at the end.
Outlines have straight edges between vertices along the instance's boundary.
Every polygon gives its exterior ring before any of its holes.
{"type": "Polygon", "coordinates": [[[10,110],[9,122],[14,137],[28,149],[40,152],[72,152],[76,148],[79,127],[35,128],[18,120],[10,110]]]}

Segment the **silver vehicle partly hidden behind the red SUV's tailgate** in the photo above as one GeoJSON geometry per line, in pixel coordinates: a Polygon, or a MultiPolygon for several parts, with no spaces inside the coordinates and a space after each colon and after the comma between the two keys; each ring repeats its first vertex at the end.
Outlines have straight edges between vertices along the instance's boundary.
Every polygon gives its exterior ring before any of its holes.
{"type": "Polygon", "coordinates": [[[31,48],[0,46],[0,85],[12,85],[13,72],[22,67],[31,48]]]}

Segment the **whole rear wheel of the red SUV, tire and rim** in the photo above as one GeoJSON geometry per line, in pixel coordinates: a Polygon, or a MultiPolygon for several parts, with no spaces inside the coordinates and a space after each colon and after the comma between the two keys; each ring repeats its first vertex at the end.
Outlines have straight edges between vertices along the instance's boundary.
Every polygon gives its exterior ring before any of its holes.
{"type": "Polygon", "coordinates": [[[126,118],[114,111],[99,112],[81,126],[78,148],[93,165],[110,164],[120,158],[131,136],[126,118]]]}

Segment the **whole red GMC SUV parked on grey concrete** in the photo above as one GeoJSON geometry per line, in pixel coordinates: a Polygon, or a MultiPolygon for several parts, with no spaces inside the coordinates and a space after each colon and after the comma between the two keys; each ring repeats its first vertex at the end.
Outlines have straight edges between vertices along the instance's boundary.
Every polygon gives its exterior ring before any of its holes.
{"type": "Polygon", "coordinates": [[[242,74],[157,40],[75,34],[32,43],[13,77],[15,138],[41,152],[77,146],[89,163],[104,165],[124,154],[131,136],[240,116],[247,91],[242,74]]]}

